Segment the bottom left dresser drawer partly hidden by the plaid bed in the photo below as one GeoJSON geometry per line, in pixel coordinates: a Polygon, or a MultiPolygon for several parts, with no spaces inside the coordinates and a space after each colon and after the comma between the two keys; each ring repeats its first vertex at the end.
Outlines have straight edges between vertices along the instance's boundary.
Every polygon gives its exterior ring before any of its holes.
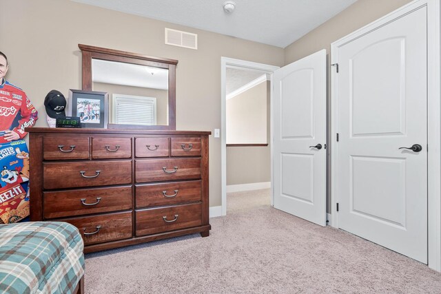
{"type": "Polygon", "coordinates": [[[133,235],[132,211],[67,218],[63,222],[69,222],[79,229],[86,246],[132,238],[133,235]]]}

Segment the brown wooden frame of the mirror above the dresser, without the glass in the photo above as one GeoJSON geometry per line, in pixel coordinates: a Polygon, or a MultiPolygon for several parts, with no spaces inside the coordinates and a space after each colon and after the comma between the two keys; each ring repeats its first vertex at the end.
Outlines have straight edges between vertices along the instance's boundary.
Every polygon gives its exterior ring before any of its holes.
{"type": "Polygon", "coordinates": [[[92,91],[92,59],[148,65],[168,70],[168,125],[119,125],[110,123],[107,125],[108,129],[176,129],[177,60],[83,44],[78,44],[78,47],[82,55],[82,88],[84,91],[92,91]]]}

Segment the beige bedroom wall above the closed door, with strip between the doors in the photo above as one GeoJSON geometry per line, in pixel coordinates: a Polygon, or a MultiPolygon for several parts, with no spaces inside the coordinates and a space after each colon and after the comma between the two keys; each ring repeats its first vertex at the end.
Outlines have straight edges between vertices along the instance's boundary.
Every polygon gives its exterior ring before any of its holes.
{"type": "MultiPolygon", "coordinates": [[[[331,52],[331,43],[346,36],[347,34],[362,28],[363,26],[383,17],[384,15],[400,8],[404,4],[411,2],[411,0],[358,0],[349,8],[337,14],[336,17],[329,19],[315,30],[312,30],[298,41],[292,43],[285,48],[285,65],[302,59],[309,54],[317,52],[322,49],[327,50],[327,101],[328,101],[328,140],[334,138],[330,134],[331,127],[331,101],[330,85],[331,66],[329,59],[329,52],[331,52]]],[[[327,144],[329,146],[329,142],[327,144]]],[[[328,164],[327,164],[327,211],[331,211],[330,195],[330,176],[331,176],[331,148],[327,148],[328,164]]]]}

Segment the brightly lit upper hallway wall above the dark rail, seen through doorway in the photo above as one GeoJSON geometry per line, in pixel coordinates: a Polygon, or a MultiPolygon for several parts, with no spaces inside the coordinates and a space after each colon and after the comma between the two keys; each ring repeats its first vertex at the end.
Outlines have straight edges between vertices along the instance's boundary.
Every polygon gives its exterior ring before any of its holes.
{"type": "Polygon", "coordinates": [[[267,83],[227,99],[227,144],[267,143],[267,83]]]}

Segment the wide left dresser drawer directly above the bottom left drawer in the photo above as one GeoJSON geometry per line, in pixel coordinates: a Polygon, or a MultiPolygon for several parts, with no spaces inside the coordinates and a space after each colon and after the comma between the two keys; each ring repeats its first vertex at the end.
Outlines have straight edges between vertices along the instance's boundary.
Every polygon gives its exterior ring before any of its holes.
{"type": "Polygon", "coordinates": [[[132,187],[43,192],[45,218],[132,209],[132,187]]]}

